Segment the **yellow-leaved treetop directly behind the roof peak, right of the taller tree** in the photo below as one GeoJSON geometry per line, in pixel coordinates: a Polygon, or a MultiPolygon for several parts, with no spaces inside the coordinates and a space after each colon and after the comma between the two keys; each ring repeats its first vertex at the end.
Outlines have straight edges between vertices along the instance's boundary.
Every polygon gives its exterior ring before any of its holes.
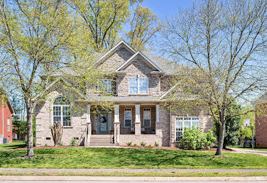
{"type": "Polygon", "coordinates": [[[153,14],[148,7],[141,5],[134,10],[130,21],[130,30],[125,32],[126,40],[136,50],[145,50],[145,44],[151,41],[160,25],[156,14],[153,14]]]}

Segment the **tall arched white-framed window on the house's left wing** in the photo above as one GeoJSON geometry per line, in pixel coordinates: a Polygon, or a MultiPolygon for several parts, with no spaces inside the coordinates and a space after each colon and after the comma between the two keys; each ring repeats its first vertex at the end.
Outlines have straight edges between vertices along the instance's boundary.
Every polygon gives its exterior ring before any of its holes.
{"type": "Polygon", "coordinates": [[[60,96],[53,103],[53,121],[61,122],[63,126],[70,126],[70,101],[60,96]]]}

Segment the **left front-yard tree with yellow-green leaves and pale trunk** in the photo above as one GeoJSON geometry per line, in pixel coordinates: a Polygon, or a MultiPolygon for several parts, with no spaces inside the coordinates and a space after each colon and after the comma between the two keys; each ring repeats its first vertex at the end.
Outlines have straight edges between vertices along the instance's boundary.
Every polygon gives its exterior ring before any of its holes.
{"type": "Polygon", "coordinates": [[[81,98],[77,89],[100,76],[83,26],[68,11],[63,1],[0,0],[0,78],[3,88],[25,103],[27,158],[34,157],[32,122],[40,100],[52,87],[81,98]],[[75,82],[66,85],[62,78],[75,82]]]}

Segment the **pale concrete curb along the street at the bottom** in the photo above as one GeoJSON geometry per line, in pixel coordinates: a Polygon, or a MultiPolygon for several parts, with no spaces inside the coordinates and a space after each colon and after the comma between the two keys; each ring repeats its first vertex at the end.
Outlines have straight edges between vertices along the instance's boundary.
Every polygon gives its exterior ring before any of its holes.
{"type": "Polygon", "coordinates": [[[267,181],[266,177],[94,177],[94,176],[0,176],[0,180],[19,181],[127,181],[127,182],[173,182],[173,181],[267,181]]]}

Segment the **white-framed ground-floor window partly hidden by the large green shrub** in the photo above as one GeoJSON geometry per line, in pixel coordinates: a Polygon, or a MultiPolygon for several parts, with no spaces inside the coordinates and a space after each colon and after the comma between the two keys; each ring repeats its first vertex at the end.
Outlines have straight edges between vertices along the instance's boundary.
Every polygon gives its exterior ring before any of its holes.
{"type": "Polygon", "coordinates": [[[197,117],[186,117],[186,118],[176,118],[176,141],[182,139],[182,133],[184,133],[184,127],[186,128],[197,128],[199,127],[200,118],[197,117]]]}

